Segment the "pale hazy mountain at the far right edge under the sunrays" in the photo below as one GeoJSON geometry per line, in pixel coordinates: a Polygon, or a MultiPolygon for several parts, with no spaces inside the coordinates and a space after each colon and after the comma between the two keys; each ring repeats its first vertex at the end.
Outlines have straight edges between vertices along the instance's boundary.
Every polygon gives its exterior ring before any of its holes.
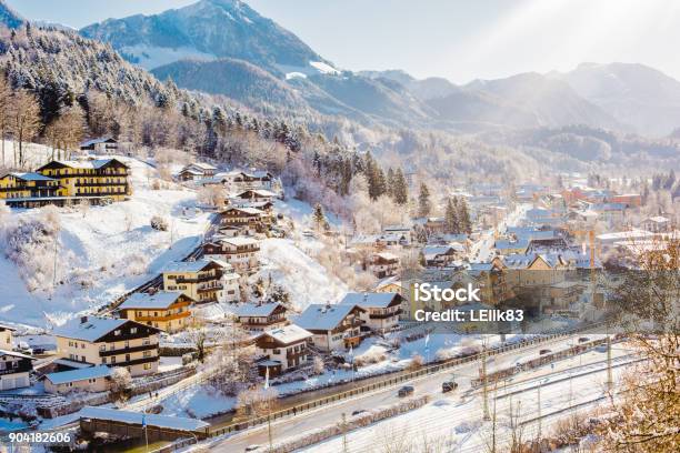
{"type": "Polygon", "coordinates": [[[680,127],[680,82],[643,64],[582,63],[566,73],[552,72],[582,98],[637,132],[667,135],[680,127]]]}

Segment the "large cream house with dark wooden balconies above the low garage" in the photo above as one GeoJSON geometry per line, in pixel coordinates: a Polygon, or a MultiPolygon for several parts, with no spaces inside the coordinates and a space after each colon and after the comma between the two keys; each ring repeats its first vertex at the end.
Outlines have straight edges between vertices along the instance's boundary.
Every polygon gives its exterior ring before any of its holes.
{"type": "Polygon", "coordinates": [[[124,366],[130,375],[158,371],[158,334],[160,330],[134,321],[113,318],[81,316],[52,334],[57,356],[90,365],[124,366]]]}

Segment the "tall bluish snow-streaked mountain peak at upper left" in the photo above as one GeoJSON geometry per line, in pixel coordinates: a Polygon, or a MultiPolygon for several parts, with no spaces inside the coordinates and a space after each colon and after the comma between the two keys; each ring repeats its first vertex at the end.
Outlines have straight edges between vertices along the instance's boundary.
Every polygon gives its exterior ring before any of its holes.
{"type": "Polygon", "coordinates": [[[293,33],[239,0],[201,0],[160,14],[109,19],[80,32],[110,42],[129,61],[147,69],[187,58],[236,58],[269,71],[330,66],[293,33]]]}

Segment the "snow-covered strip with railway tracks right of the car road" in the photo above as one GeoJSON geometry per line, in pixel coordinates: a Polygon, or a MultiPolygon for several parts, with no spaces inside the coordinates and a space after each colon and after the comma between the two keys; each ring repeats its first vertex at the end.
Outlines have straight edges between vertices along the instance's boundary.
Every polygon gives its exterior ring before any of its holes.
{"type": "MultiPolygon", "coordinates": [[[[614,381],[629,366],[626,364],[634,360],[627,358],[629,354],[628,351],[616,352],[614,381]]],[[[554,369],[550,365],[542,366],[490,387],[488,407],[491,417],[496,411],[499,450],[507,450],[510,440],[508,426],[511,407],[516,416],[519,415],[519,423],[523,424],[523,439],[529,440],[539,429],[543,434],[549,433],[554,423],[570,411],[587,410],[601,404],[606,400],[607,368],[602,363],[604,355],[591,351],[558,362],[554,369]]],[[[489,451],[492,423],[482,421],[483,400],[480,391],[466,391],[462,382],[457,392],[443,395],[433,390],[431,396],[432,402],[421,409],[348,433],[347,452],[387,450],[388,445],[394,450],[396,445],[404,443],[411,443],[416,450],[423,450],[424,440],[431,450],[436,450],[433,445],[442,445],[443,451],[448,452],[489,451]]],[[[303,451],[343,451],[342,439],[331,439],[303,451]]]]}

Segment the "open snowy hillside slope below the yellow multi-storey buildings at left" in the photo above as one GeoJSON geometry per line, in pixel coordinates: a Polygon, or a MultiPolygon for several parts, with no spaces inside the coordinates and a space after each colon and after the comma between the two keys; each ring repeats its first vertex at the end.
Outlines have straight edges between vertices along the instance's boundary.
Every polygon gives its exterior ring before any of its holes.
{"type": "MultiPolygon", "coordinates": [[[[31,145],[34,165],[44,163],[51,151],[31,145]]],[[[101,157],[98,157],[101,158],[101,157]]],[[[110,302],[116,296],[152,279],[168,262],[186,256],[200,244],[209,214],[194,214],[196,192],[180,185],[153,190],[156,169],[136,159],[117,157],[131,168],[133,195],[107,207],[60,208],[59,246],[53,274],[42,286],[53,291],[29,292],[19,269],[0,255],[0,321],[44,326],[79,312],[110,302]],[[150,219],[161,215],[170,230],[156,231],[150,219]]],[[[41,215],[41,210],[12,210],[12,220],[41,215]]]]}

